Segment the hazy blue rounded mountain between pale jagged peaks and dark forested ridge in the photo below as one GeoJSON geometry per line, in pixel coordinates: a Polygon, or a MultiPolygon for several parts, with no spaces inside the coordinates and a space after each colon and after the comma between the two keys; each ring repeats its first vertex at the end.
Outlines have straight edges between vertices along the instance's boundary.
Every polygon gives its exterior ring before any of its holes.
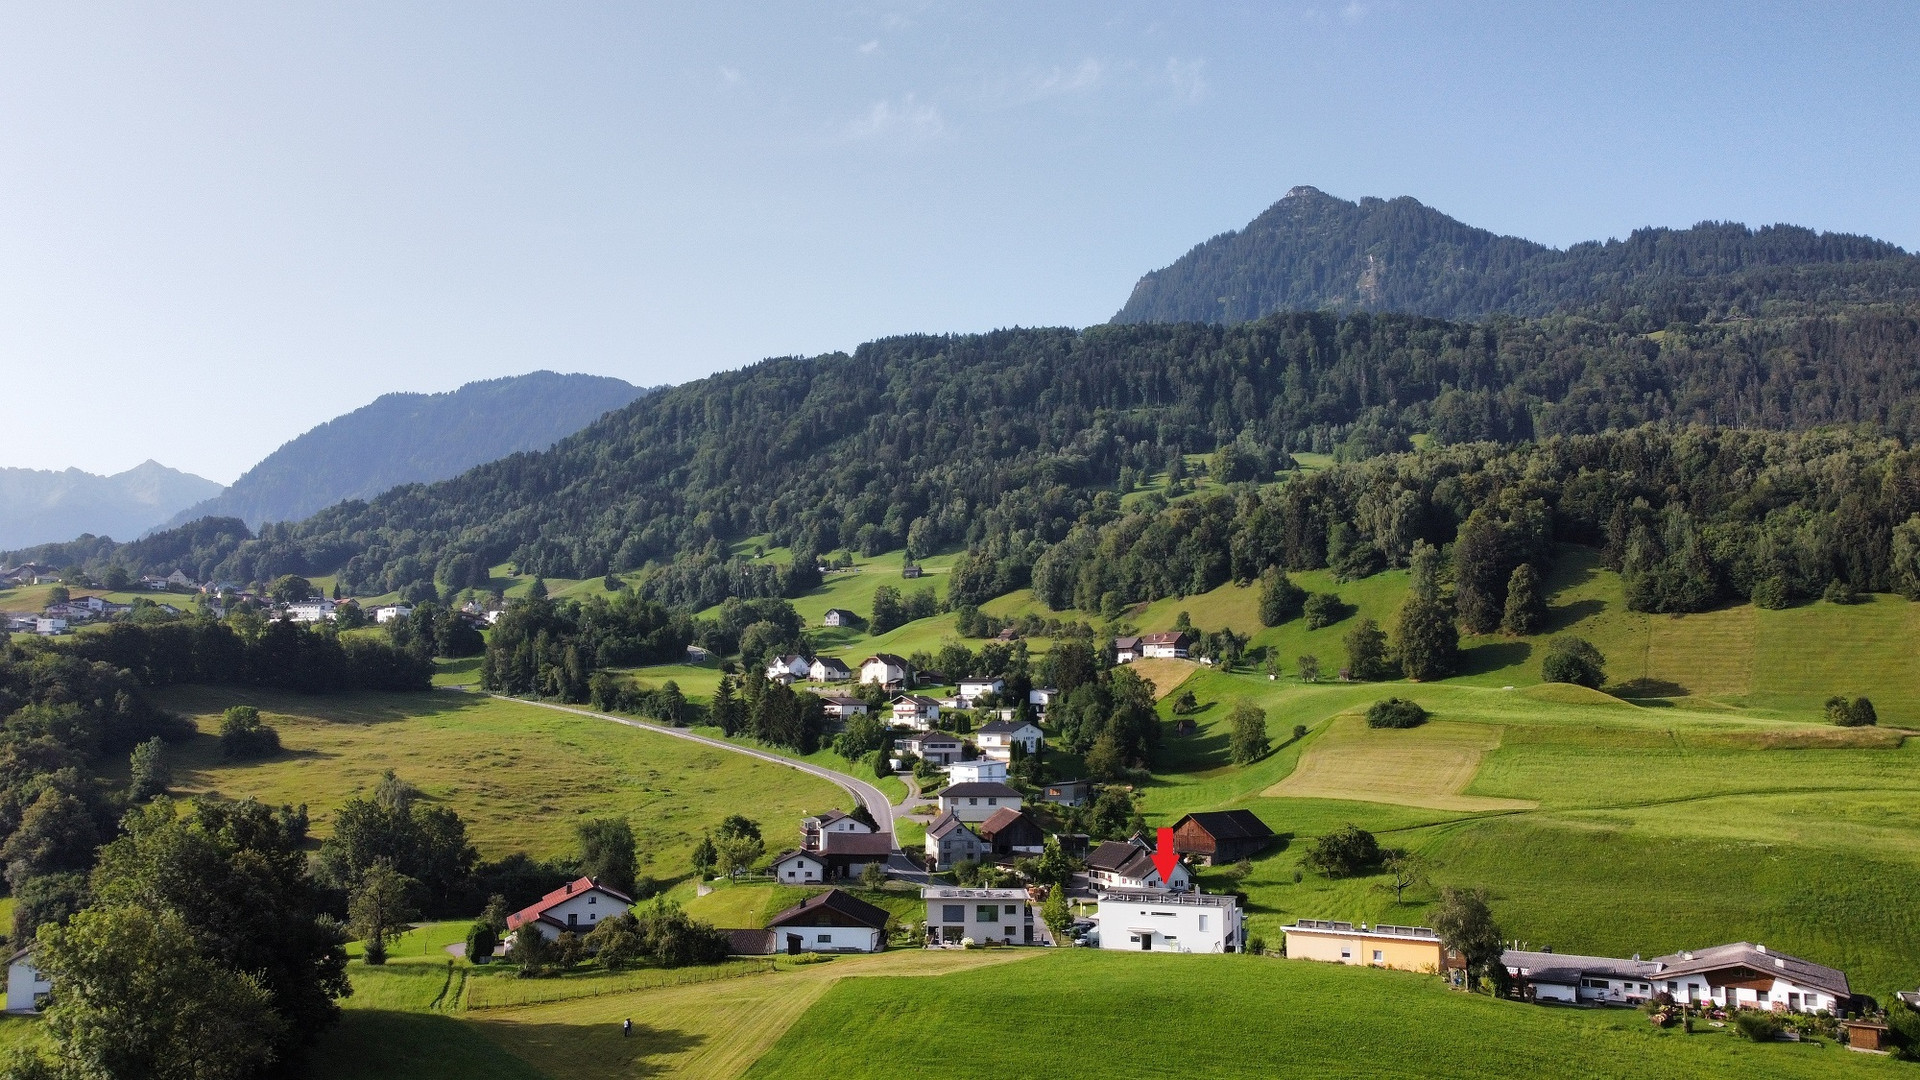
{"type": "Polygon", "coordinates": [[[173,515],[173,525],[238,517],[259,528],[399,484],[444,480],[520,450],[545,450],[645,392],[599,375],[536,371],[445,394],[386,394],[275,450],[234,486],[173,515]]]}

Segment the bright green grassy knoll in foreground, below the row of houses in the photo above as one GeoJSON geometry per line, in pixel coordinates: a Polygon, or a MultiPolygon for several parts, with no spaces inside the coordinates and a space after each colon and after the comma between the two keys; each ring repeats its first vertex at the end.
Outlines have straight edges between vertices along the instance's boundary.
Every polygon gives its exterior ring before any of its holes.
{"type": "Polygon", "coordinates": [[[1027,1080],[1092,1068],[1183,1080],[1812,1080],[1899,1076],[1910,1067],[1837,1045],[1757,1045],[1713,1028],[1661,1032],[1626,1009],[1496,1001],[1411,972],[1062,949],[947,974],[927,988],[837,982],[747,1076],[1027,1080]],[[983,1013],[993,1017],[993,1038],[981,1036],[983,1013]]]}

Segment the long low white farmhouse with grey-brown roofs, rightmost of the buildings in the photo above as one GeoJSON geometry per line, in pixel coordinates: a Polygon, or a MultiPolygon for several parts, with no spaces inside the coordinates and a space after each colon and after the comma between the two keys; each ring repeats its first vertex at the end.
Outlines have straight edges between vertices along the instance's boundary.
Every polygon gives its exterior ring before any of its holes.
{"type": "Polygon", "coordinates": [[[1837,1015],[1853,999],[1845,972],[1751,942],[1651,961],[1507,949],[1501,963],[1536,1001],[1638,1005],[1672,994],[1682,1005],[1837,1015]]]}

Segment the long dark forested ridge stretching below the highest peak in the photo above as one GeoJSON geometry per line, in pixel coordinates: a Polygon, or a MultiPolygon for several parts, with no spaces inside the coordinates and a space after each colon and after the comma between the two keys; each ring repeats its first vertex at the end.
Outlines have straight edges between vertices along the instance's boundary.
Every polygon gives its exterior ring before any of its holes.
{"type": "Polygon", "coordinates": [[[1864,423],[1910,440],[1914,356],[1920,317],[1884,311],[1655,334],[1578,317],[1309,313],[900,336],[649,394],[549,452],[338,503],[257,538],[202,523],[140,550],[21,555],[67,565],[167,553],[232,580],[342,571],[359,594],[465,588],[507,559],[549,577],[680,559],[705,584],[659,596],[712,601],[714,590],[766,594],[770,582],[747,582],[722,557],[722,542],[755,534],[797,550],[920,553],[996,538],[993,557],[1031,567],[1127,471],[1144,479],[1177,454],[1225,444],[1269,463],[1296,450],[1359,459],[1404,450],[1417,432],[1519,442],[1647,421],[1864,423]]]}

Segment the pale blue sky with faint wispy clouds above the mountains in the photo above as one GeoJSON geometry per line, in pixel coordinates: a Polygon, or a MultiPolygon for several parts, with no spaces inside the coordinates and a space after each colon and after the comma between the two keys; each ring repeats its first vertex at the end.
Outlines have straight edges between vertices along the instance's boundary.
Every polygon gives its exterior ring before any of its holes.
{"type": "Polygon", "coordinates": [[[1098,323],[1294,184],[1920,248],[1910,4],[0,12],[0,465],[225,482],[390,390],[1098,323]]]}

